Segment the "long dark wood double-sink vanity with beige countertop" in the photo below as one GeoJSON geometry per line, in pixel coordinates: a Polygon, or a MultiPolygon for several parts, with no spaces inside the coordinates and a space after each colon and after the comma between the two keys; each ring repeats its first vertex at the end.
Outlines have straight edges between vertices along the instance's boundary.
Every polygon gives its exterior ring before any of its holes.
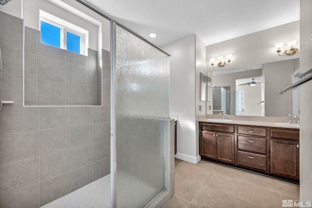
{"type": "Polygon", "coordinates": [[[202,159],[299,181],[299,128],[273,122],[199,119],[202,159]]]}

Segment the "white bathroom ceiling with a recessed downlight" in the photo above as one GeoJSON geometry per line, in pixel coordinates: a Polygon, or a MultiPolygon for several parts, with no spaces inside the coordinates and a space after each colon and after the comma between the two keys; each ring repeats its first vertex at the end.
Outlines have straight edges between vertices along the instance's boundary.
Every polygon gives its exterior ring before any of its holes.
{"type": "Polygon", "coordinates": [[[158,46],[192,34],[207,46],[300,18],[299,0],[87,1],[158,46]]]}

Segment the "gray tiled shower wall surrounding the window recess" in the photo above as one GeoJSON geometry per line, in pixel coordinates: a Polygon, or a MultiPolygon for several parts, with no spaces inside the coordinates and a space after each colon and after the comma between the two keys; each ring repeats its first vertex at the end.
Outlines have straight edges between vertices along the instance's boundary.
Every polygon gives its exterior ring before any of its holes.
{"type": "Polygon", "coordinates": [[[22,37],[22,19],[0,12],[2,98],[14,101],[0,112],[0,208],[38,208],[110,173],[109,52],[103,106],[23,107],[22,37]]]}

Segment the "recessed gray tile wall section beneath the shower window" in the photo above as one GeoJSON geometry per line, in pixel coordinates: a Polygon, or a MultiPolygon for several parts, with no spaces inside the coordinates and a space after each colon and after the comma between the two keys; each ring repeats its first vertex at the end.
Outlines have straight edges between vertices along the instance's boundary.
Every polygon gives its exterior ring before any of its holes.
{"type": "Polygon", "coordinates": [[[25,105],[100,105],[98,52],[83,56],[41,43],[25,27],[25,105]]]}

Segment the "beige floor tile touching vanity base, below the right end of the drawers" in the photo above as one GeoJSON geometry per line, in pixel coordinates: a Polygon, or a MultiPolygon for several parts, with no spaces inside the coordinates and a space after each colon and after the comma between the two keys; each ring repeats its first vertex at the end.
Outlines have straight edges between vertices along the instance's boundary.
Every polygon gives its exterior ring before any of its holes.
{"type": "Polygon", "coordinates": [[[267,176],[255,174],[252,172],[243,171],[240,179],[242,182],[251,184],[263,189],[273,190],[279,192],[276,184],[276,180],[267,176]]]}

